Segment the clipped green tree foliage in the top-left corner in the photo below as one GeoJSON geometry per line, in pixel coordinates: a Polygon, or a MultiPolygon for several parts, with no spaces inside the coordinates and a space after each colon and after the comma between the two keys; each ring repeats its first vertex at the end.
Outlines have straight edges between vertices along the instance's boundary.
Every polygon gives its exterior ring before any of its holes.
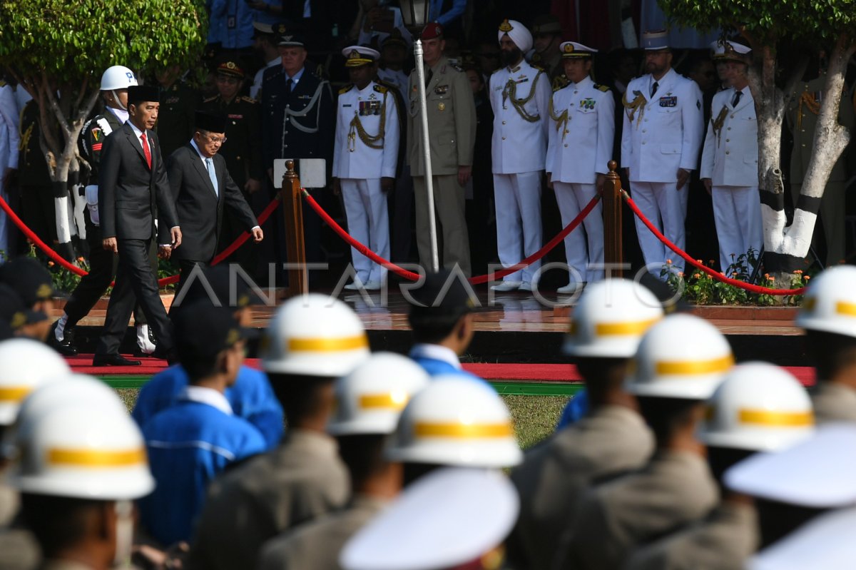
{"type": "Polygon", "coordinates": [[[204,0],[0,0],[0,21],[0,64],[58,85],[97,82],[111,65],[186,66],[208,27],[204,0]]]}

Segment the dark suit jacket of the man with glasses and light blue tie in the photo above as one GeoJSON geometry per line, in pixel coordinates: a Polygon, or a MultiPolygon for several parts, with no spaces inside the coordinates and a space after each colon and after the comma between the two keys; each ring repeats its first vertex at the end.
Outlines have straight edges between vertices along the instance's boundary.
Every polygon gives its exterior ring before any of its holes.
{"type": "Polygon", "coordinates": [[[214,155],[219,195],[214,193],[205,163],[189,144],[169,156],[167,172],[181,223],[181,247],[175,250],[175,258],[211,261],[217,252],[223,208],[226,206],[235,211],[247,229],[259,225],[241,190],[229,176],[225,159],[219,154],[214,155]]]}

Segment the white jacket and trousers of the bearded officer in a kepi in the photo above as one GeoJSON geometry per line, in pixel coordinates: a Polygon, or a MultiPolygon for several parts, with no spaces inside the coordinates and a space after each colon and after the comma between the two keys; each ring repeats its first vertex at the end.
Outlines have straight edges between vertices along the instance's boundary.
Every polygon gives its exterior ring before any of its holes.
{"type": "MultiPolygon", "coordinates": [[[[645,101],[635,111],[624,109],[621,168],[630,169],[630,191],[639,210],[684,249],[689,182],[677,190],[676,181],[678,169],[694,170],[698,166],[704,134],[702,97],[695,81],[674,69],[657,81],[657,92],[651,97],[654,82],[649,74],[627,86],[626,101],[632,102],[639,95],[645,101]]],[[[639,246],[651,273],[659,276],[666,259],[672,259],[674,269],[682,271],[683,259],[657,240],[638,218],[635,221],[639,246]]]]}

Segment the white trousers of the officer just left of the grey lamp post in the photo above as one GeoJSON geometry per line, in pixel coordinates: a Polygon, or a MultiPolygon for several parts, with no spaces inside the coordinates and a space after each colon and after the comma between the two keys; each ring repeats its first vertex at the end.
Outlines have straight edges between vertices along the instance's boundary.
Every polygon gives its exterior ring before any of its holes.
{"type": "MultiPolygon", "coordinates": [[[[348,217],[348,233],[368,246],[372,252],[389,259],[389,212],[386,194],[381,192],[380,179],[354,180],[342,178],[342,200],[348,217]]],[[[363,283],[383,282],[386,269],[351,248],[351,258],[357,277],[363,283]]]]}

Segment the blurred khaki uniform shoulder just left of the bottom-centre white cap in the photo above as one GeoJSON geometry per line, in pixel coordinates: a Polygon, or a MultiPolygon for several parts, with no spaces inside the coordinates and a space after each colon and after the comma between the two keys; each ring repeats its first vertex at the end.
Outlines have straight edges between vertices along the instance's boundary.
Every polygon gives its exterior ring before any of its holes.
{"type": "Polygon", "coordinates": [[[339,568],[339,554],[345,543],[387,504],[371,496],[356,496],[341,513],[329,514],[269,540],[259,557],[259,570],[339,568]]]}

